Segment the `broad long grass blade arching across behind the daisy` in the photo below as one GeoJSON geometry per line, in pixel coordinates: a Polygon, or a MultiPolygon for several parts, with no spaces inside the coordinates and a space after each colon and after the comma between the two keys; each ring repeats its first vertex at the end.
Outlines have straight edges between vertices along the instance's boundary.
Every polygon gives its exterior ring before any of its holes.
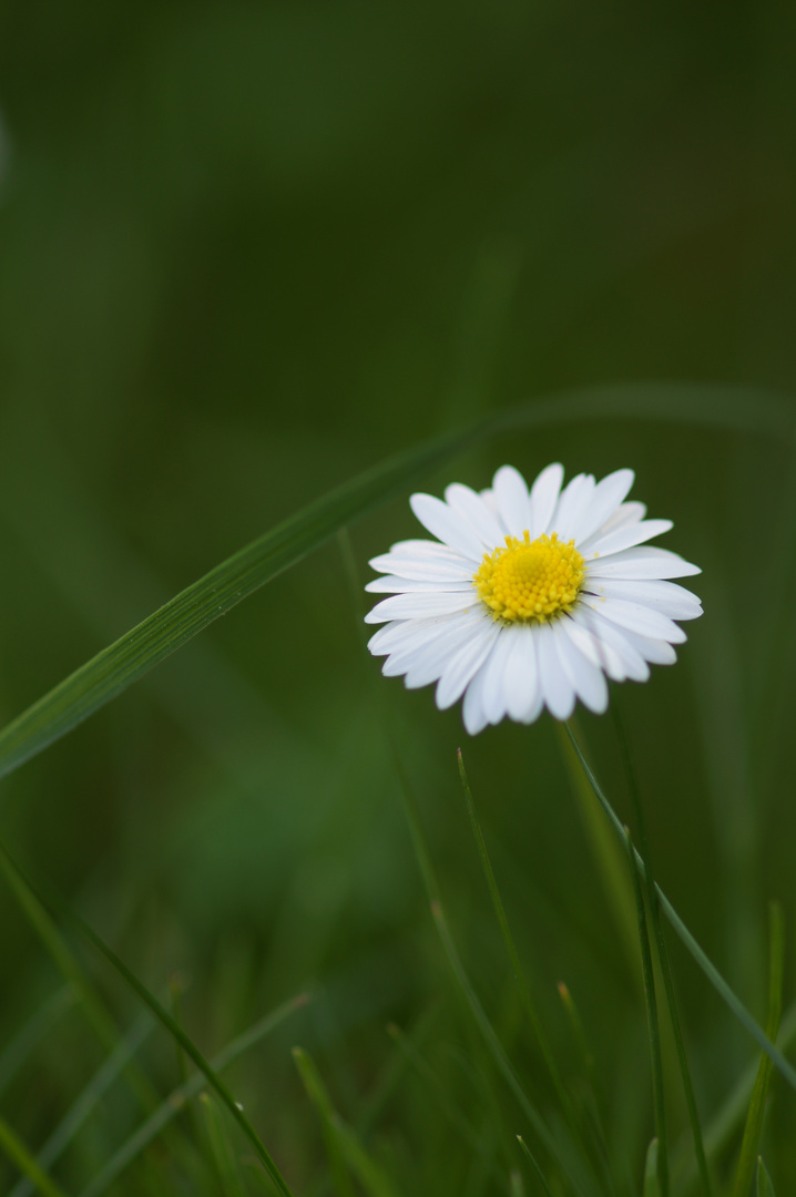
{"type": "Polygon", "coordinates": [[[345,524],[433,467],[509,431],[618,418],[754,431],[779,438],[794,431],[786,401],[767,393],[688,385],[609,387],[537,399],[462,432],[401,452],[316,499],[227,558],[7,724],[0,731],[0,777],[66,735],[345,524]]]}

